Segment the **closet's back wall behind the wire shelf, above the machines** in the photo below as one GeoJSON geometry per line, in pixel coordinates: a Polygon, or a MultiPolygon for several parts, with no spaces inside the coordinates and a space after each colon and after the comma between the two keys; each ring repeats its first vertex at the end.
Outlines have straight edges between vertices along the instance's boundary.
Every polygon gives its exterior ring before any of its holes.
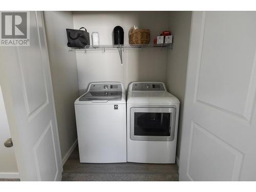
{"type": "MultiPolygon", "coordinates": [[[[99,33],[100,45],[112,45],[112,31],[120,25],[124,29],[124,44],[129,44],[129,29],[136,25],[151,30],[154,37],[168,30],[169,12],[158,11],[87,11],[73,12],[74,28],[85,27],[99,33]]],[[[91,39],[92,42],[92,39],[91,39]]],[[[68,54],[73,54],[69,52],[68,54]]],[[[123,65],[117,50],[76,52],[80,94],[95,81],[120,81],[127,88],[133,81],[165,81],[167,50],[125,50],[123,65]]]]}

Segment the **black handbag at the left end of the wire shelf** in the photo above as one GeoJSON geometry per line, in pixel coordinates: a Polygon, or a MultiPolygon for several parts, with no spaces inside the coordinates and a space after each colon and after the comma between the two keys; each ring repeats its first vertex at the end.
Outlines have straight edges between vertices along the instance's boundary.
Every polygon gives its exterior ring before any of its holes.
{"type": "Polygon", "coordinates": [[[77,29],[66,29],[68,37],[68,47],[84,48],[90,45],[90,36],[86,28],[81,27],[77,29]],[[80,30],[84,29],[84,30],[80,30]]]}

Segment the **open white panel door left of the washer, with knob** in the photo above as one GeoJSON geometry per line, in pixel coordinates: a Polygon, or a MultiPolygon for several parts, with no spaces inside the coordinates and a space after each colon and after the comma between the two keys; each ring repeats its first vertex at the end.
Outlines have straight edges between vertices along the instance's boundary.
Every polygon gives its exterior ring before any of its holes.
{"type": "Polygon", "coordinates": [[[62,163],[42,12],[30,12],[30,46],[2,47],[3,95],[22,181],[59,181],[62,163]],[[6,92],[5,92],[6,91],[6,92]]]}

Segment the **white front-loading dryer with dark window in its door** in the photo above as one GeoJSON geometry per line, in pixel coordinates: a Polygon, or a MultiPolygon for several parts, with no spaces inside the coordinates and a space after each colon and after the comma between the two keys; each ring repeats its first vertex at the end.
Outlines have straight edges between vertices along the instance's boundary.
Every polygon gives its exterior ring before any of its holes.
{"type": "Polygon", "coordinates": [[[127,161],[175,163],[179,99],[162,82],[133,82],[126,103],[127,161]]]}

